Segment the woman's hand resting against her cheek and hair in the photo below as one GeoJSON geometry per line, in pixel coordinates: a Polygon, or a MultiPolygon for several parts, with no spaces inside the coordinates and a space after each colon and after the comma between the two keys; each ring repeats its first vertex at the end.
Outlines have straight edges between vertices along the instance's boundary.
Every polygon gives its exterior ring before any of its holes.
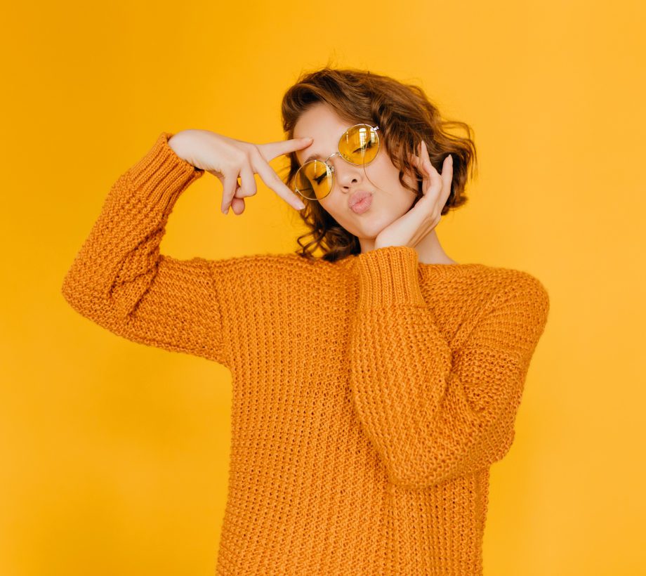
{"type": "Polygon", "coordinates": [[[442,208],[451,193],[453,179],[453,158],[449,154],[444,158],[442,174],[428,159],[426,143],[422,140],[418,150],[419,156],[413,156],[413,162],[421,174],[423,197],[404,216],[388,224],[375,238],[374,249],[386,246],[409,246],[414,248],[423,237],[428,235],[442,218],[442,208]]]}

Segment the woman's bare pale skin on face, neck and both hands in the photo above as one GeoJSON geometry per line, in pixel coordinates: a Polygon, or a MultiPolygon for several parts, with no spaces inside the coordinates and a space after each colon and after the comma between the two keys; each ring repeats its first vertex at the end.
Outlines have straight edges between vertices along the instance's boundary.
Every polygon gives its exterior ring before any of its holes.
{"type": "MultiPolygon", "coordinates": [[[[329,106],[317,103],[301,114],[291,140],[254,144],[211,131],[185,130],[171,137],[169,145],[178,156],[220,179],[223,213],[232,207],[239,216],[244,211],[244,198],[256,194],[255,174],[291,207],[302,209],[298,195],[286,187],[268,162],[292,151],[301,163],[315,150],[319,157],[327,158],[329,150],[337,150],[338,139],[348,127],[329,106]]],[[[423,197],[415,206],[416,195],[400,184],[398,170],[384,143],[368,166],[353,166],[338,156],[328,162],[334,163],[336,170],[334,184],[329,195],[319,202],[345,230],[357,236],[362,253],[387,246],[409,246],[418,252],[421,263],[457,263],[444,252],[435,231],[451,190],[450,155],[440,174],[428,162],[426,144],[420,143],[418,155],[411,158],[411,163],[425,174],[423,197]],[[374,205],[361,216],[348,208],[349,195],[358,189],[374,195],[374,205]]],[[[415,184],[409,176],[407,183],[415,184]]]]}

